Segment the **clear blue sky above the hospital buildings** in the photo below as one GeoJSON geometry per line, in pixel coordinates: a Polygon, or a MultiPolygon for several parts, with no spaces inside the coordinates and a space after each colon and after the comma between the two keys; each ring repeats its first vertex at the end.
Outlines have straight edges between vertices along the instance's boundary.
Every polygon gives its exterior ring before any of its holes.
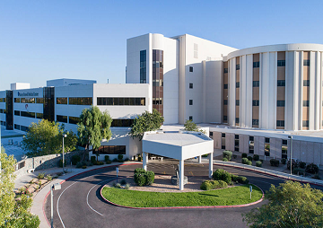
{"type": "Polygon", "coordinates": [[[323,1],[0,2],[0,90],[48,79],[125,83],[126,42],[188,33],[234,48],[323,43],[323,1]]]}

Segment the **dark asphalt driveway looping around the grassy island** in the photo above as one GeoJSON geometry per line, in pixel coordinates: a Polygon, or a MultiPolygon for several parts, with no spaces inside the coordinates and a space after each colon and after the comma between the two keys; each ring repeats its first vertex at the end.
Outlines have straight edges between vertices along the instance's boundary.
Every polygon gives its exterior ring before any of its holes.
{"type": "MultiPolygon", "coordinates": [[[[138,167],[141,165],[120,166],[119,175],[132,175],[138,167]]],[[[174,175],[173,167],[171,164],[151,163],[148,170],[174,175]]],[[[214,170],[218,168],[220,167],[214,165],[214,170]]],[[[223,169],[248,177],[251,183],[264,190],[269,189],[272,183],[277,185],[284,181],[251,171],[226,167],[223,169]]],[[[208,164],[185,165],[185,175],[207,176],[207,173],[208,164]]],[[[256,207],[138,210],[111,206],[100,197],[100,187],[115,177],[115,167],[107,167],[67,180],[61,190],[55,191],[54,227],[246,227],[241,214],[256,207]]],[[[262,204],[264,202],[257,206],[262,204]]],[[[49,197],[45,212],[49,218],[49,197]]]]}

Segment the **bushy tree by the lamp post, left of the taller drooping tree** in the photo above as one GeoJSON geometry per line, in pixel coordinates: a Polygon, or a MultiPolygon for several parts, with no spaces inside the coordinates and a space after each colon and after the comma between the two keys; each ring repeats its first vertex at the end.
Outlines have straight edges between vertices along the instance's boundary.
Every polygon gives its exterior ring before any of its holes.
{"type": "Polygon", "coordinates": [[[65,131],[65,125],[41,119],[38,123],[31,123],[30,129],[22,139],[22,149],[28,151],[29,155],[41,156],[52,153],[62,153],[62,137],[65,151],[75,150],[77,137],[71,131],[65,131]]]}

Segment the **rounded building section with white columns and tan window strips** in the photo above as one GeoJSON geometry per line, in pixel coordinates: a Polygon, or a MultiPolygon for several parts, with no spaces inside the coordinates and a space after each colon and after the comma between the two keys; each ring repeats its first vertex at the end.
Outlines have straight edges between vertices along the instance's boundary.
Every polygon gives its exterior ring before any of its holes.
{"type": "Polygon", "coordinates": [[[231,52],[223,63],[223,122],[261,129],[323,128],[323,45],[231,52]]]}

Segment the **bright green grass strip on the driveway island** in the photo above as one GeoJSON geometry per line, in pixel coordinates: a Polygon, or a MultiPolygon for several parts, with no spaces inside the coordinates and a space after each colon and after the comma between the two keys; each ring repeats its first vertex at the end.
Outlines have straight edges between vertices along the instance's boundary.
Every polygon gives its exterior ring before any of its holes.
{"type": "Polygon", "coordinates": [[[262,192],[253,186],[250,200],[249,185],[199,192],[149,192],[105,187],[102,195],[110,202],[121,206],[231,206],[255,202],[262,192]]]}

